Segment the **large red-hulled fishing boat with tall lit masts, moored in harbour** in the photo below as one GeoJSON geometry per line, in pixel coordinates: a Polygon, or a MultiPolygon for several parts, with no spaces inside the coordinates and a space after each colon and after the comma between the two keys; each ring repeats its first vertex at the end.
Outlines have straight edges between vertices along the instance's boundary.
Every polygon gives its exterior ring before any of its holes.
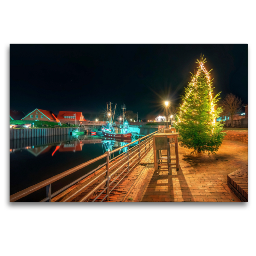
{"type": "Polygon", "coordinates": [[[132,138],[132,132],[130,131],[128,122],[125,118],[124,111],[125,111],[125,105],[122,107],[123,109],[123,118],[120,117],[119,119],[119,125],[113,125],[115,112],[116,112],[116,106],[114,110],[114,115],[112,118],[112,108],[111,108],[111,102],[107,103],[107,120],[104,124],[104,127],[102,127],[101,131],[103,136],[109,137],[109,138],[116,138],[116,139],[129,139],[132,138]],[[108,104],[110,105],[110,108],[108,110],[108,104]],[[121,125],[121,119],[123,119],[123,125],[121,125]]]}

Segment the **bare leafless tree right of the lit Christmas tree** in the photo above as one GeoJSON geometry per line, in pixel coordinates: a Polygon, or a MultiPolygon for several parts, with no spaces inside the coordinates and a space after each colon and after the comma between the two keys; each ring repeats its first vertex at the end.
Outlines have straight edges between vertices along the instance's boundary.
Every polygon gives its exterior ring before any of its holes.
{"type": "Polygon", "coordinates": [[[229,93],[222,102],[224,113],[230,116],[231,127],[233,127],[233,116],[242,108],[242,100],[236,95],[229,93]]]}

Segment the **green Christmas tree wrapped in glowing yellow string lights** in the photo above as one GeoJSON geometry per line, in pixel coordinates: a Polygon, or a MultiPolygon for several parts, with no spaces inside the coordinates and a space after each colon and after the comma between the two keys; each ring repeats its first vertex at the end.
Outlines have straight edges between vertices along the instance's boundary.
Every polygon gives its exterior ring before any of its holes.
{"type": "Polygon", "coordinates": [[[213,98],[211,70],[206,71],[206,59],[203,58],[201,54],[200,61],[196,61],[199,64],[198,71],[196,75],[191,73],[185,95],[181,96],[182,104],[176,115],[175,127],[179,130],[180,146],[194,149],[191,153],[207,151],[210,154],[218,151],[225,133],[221,132],[224,124],[216,122],[223,110],[214,108],[220,93],[213,98]]]}

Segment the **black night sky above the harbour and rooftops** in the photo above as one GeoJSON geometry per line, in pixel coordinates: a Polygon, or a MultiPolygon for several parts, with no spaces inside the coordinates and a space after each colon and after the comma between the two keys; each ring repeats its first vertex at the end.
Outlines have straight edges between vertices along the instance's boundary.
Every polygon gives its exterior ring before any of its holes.
{"type": "Polygon", "coordinates": [[[97,116],[112,101],[149,118],[179,105],[200,53],[214,93],[247,103],[247,44],[10,44],[10,109],[97,116]]]}

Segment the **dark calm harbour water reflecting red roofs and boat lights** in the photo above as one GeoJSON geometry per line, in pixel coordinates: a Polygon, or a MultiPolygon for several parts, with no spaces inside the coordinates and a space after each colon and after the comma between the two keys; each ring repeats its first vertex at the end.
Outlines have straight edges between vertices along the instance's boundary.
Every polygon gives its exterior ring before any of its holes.
{"type": "MultiPolygon", "coordinates": [[[[140,133],[143,132],[143,134],[147,135],[156,130],[154,128],[145,128],[143,131],[143,128],[141,128],[140,133]]],[[[132,139],[132,141],[134,140],[136,139],[132,139]]],[[[130,142],[131,140],[113,140],[112,138],[86,134],[10,140],[10,195],[130,142]]],[[[130,147],[136,144],[132,144],[130,147]]],[[[112,154],[110,159],[126,150],[127,148],[124,147],[112,154]]],[[[101,159],[54,182],[52,184],[52,193],[104,162],[105,159],[101,159]]],[[[42,188],[29,196],[21,198],[18,202],[38,202],[45,196],[46,188],[42,188]]]]}

